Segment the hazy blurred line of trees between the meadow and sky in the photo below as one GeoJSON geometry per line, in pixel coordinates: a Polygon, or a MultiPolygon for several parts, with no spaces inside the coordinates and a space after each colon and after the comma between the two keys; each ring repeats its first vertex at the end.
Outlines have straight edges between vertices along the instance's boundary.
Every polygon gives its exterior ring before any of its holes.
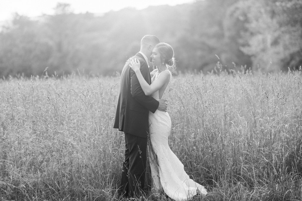
{"type": "Polygon", "coordinates": [[[15,14],[0,32],[0,77],[115,75],[146,34],[175,51],[176,71],[264,72],[302,65],[299,0],[204,0],[176,6],[124,8],[101,16],[58,3],[53,15],[15,14]]]}

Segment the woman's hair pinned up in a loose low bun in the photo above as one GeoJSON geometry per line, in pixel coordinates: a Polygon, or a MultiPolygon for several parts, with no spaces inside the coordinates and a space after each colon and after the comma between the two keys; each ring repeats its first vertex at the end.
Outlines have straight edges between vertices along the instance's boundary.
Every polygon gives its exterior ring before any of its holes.
{"type": "Polygon", "coordinates": [[[162,62],[167,66],[168,70],[173,73],[176,66],[173,48],[165,42],[158,43],[155,48],[158,49],[162,62]]]}

